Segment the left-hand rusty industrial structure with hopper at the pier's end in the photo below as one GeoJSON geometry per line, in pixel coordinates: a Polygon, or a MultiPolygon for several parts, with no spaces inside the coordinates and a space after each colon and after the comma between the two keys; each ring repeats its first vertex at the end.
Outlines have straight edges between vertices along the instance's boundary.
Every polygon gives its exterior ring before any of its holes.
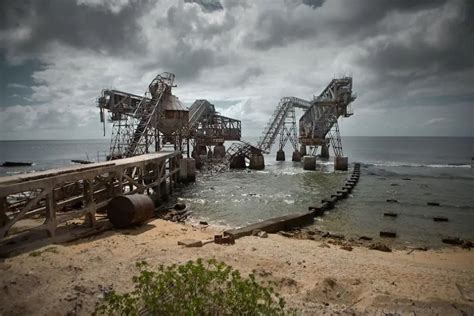
{"type": "Polygon", "coordinates": [[[209,101],[196,100],[186,109],[172,94],[174,78],[168,72],[159,74],[143,97],[102,91],[98,99],[101,122],[105,124],[108,112],[113,123],[108,160],[159,151],[165,143],[188,156],[192,146],[195,158],[208,155],[208,149],[209,156],[223,158],[224,142],[240,140],[240,121],[220,115],[209,101]]]}

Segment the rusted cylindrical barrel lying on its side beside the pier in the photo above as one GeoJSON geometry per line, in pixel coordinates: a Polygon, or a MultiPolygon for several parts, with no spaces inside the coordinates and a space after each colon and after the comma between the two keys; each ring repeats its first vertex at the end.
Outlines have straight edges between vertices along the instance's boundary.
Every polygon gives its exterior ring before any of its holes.
{"type": "Polygon", "coordinates": [[[121,195],[110,200],[107,217],[114,227],[125,228],[150,219],[154,209],[153,200],[148,195],[121,195]]]}

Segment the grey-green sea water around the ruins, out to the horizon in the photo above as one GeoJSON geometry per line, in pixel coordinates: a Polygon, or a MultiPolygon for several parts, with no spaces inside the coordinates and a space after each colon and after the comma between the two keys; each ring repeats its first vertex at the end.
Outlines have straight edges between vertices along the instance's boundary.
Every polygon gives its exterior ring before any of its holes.
{"type": "MultiPolygon", "coordinates": [[[[254,141],[254,139],[250,139],[254,141]]],[[[474,239],[474,138],[343,137],[344,155],[361,163],[361,178],[350,198],[318,218],[315,225],[348,237],[395,230],[397,246],[441,247],[446,236],[474,239]],[[396,199],[398,203],[388,203],[396,199]],[[428,206],[436,202],[440,206],[428,206]],[[384,217],[395,212],[396,218],[384,217]],[[448,222],[434,222],[445,216],[448,222]]],[[[0,162],[33,161],[31,167],[0,167],[0,175],[71,165],[71,159],[103,160],[109,140],[0,141],[0,162]]],[[[346,172],[334,172],[332,159],[317,171],[265,156],[265,170],[207,172],[179,192],[193,220],[237,227],[307,210],[340,189],[346,172]]]]}

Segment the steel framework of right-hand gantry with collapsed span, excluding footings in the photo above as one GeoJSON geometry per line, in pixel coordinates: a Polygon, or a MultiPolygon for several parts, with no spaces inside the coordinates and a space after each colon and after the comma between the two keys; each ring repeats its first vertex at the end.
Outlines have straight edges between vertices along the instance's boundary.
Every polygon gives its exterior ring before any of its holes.
{"type": "Polygon", "coordinates": [[[339,134],[338,118],[349,117],[353,113],[350,103],[356,98],[352,94],[352,78],[333,79],[329,85],[312,101],[296,97],[284,97],[275,108],[262,136],[255,146],[242,142],[232,145],[227,151],[229,160],[236,156],[247,156],[249,152],[269,153],[277,136],[280,136],[280,149],[290,141],[295,151],[298,142],[310,146],[311,154],[316,155],[318,146],[331,145],[336,157],[342,157],[342,144],[339,134]],[[304,110],[299,120],[299,136],[296,135],[295,108],[304,110]]]}

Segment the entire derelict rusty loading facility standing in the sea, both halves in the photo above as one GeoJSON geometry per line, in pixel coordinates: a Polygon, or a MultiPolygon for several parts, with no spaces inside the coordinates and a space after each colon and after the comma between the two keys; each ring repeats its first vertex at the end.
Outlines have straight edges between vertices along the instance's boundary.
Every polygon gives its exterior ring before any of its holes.
{"type": "Polygon", "coordinates": [[[329,158],[329,148],[335,155],[335,168],[347,169],[343,156],[338,119],[352,115],[350,103],[352,78],[333,79],[319,96],[311,101],[284,97],[275,108],[257,144],[241,140],[239,120],[216,112],[207,100],[196,100],[186,109],[172,95],[174,75],[162,73],[149,85],[144,97],[117,90],[104,90],[99,98],[101,120],[105,112],[113,122],[109,159],[130,157],[150,152],[152,144],[159,151],[169,142],[176,150],[198,161],[203,157],[227,158],[231,168],[264,168],[264,156],[278,140],[277,160],[285,160],[283,148],[288,142],[293,147],[293,161],[303,161],[305,169],[314,169],[315,157],[329,158]],[[297,127],[295,109],[303,110],[297,127]],[[160,141],[161,139],[161,141],[160,141]],[[225,150],[224,142],[232,141],[225,150]],[[213,149],[212,149],[213,147],[213,149]],[[306,167],[305,167],[306,166],[306,167]]]}

